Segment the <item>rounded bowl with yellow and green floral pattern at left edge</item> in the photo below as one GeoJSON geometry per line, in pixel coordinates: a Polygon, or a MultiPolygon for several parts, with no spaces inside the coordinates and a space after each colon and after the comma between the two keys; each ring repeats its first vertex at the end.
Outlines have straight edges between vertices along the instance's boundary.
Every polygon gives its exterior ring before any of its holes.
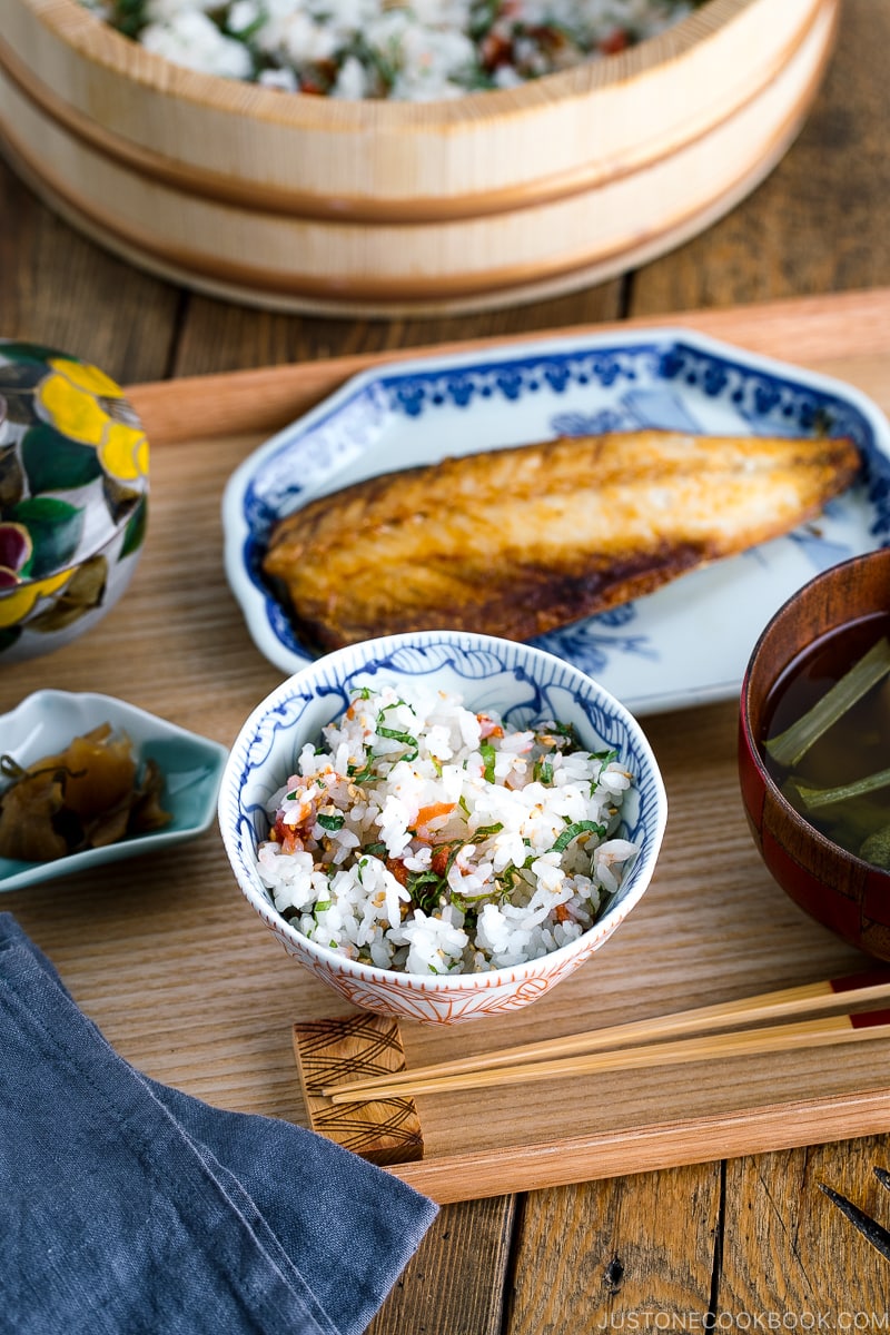
{"type": "Polygon", "coordinates": [[[148,442],[104,371],[0,339],[0,665],[68,643],[124,593],[148,442]]]}

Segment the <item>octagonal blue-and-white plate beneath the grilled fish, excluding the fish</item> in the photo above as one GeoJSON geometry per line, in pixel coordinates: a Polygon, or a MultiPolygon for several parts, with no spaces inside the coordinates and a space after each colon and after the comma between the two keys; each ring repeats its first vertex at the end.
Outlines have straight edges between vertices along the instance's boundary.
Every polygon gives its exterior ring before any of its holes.
{"type": "Polygon", "coordinates": [[[558,338],[395,362],[348,380],[232,474],[226,566],[258,647],[311,659],[264,583],[272,525],[363,478],[555,435],[664,427],[709,435],[850,435],[862,479],[815,523],[536,641],[634,713],[737,693],[761,630],[795,589],[890,542],[890,429],[858,390],[686,330],[558,338]]]}

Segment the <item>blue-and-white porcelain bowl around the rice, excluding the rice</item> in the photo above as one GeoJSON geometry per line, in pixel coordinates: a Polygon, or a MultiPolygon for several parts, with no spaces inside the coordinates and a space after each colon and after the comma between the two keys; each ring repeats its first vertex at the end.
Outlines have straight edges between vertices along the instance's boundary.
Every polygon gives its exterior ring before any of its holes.
{"type": "MultiPolygon", "coordinates": [[[[667,818],[658,764],[635,718],[592,678],[531,645],[488,635],[422,631],[366,641],[328,654],[274,690],[235,740],[223,774],[219,821],[238,884],[288,955],[354,1005],[420,1023],[458,1023],[516,1011],[544,996],[615,932],[650,884],[667,818]],[[631,776],[608,829],[615,846],[635,852],[623,864],[590,926],[535,959],[479,972],[407,972],[351,959],[299,929],[299,914],[275,904],[274,877],[259,865],[270,820],[298,773],[306,744],[342,718],[358,690],[402,689],[406,697],[442,692],[507,730],[554,721],[571,725],[584,749],[615,752],[631,776]],[[292,918],[292,920],[288,920],[292,918]]],[[[282,900],[279,898],[279,902],[282,900]]]]}

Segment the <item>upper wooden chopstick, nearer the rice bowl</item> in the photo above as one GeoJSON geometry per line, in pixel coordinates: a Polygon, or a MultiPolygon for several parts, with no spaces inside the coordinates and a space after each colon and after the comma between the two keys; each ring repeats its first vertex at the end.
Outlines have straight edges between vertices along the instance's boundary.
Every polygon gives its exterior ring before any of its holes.
{"type": "MultiPolygon", "coordinates": [[[[858,1005],[866,1001],[890,999],[890,971],[871,969],[841,979],[819,983],[803,983],[793,988],[763,992],[735,1001],[718,1001],[713,1005],[695,1007],[647,1020],[631,1020],[604,1029],[591,1029],[586,1033],[566,1035],[559,1039],[546,1039],[540,1043],[527,1043],[512,1048],[498,1048],[468,1057],[455,1057],[415,1071],[387,1073],[387,1088],[408,1084],[420,1079],[464,1075],[474,1071],[499,1069],[502,1067],[524,1065],[531,1061],[552,1061],[560,1057],[602,1052],[626,1044],[650,1043],[681,1033],[722,1029],[733,1024],[754,1024],[758,1020],[778,1020],[805,1011],[827,1011],[837,1005],[858,1005]]],[[[380,1084],[379,1076],[364,1076],[360,1080],[324,1085],[319,1091],[326,1097],[340,1095],[360,1095],[374,1091],[380,1084]]]]}

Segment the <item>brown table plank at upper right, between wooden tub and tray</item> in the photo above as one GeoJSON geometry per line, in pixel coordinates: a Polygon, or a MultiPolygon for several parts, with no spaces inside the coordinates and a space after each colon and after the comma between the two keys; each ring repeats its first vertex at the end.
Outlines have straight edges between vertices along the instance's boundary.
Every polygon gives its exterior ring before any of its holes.
{"type": "Polygon", "coordinates": [[[731,214],[634,275],[631,315],[890,282],[890,7],[843,0],[827,79],[793,150],[731,214]]]}

